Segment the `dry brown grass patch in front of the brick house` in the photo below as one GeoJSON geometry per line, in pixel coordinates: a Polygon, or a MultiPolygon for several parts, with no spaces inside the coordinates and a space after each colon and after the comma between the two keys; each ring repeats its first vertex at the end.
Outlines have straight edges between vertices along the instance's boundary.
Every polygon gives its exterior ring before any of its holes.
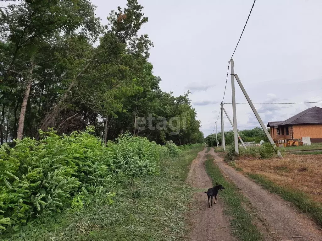
{"type": "Polygon", "coordinates": [[[283,159],[236,160],[244,172],[261,174],[282,187],[307,193],[322,202],[322,155],[286,155],[283,159]]]}

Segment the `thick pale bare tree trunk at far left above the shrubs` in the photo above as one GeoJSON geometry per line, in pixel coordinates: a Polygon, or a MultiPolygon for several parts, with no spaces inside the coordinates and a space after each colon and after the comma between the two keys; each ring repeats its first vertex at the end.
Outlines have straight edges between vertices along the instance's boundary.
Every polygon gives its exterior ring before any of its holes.
{"type": "Polygon", "coordinates": [[[24,91],[24,99],[21,104],[21,111],[20,111],[20,117],[18,121],[18,132],[17,132],[17,139],[21,140],[24,135],[24,118],[26,114],[27,109],[27,103],[30,93],[30,88],[33,83],[33,61],[30,61],[30,70],[29,70],[29,77],[26,85],[26,90],[24,91]]]}

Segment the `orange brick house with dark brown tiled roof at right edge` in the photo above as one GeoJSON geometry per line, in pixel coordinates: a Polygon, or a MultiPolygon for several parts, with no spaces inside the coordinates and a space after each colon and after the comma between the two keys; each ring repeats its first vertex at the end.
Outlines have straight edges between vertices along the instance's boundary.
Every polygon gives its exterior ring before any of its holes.
{"type": "Polygon", "coordinates": [[[270,136],[273,139],[296,140],[310,137],[311,143],[322,142],[322,108],[312,107],[286,121],[270,121],[270,136]]]}

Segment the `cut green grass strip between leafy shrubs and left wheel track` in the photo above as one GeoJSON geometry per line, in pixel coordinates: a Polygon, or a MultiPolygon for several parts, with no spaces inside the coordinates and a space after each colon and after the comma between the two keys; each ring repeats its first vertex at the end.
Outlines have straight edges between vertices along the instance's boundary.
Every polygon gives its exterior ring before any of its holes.
{"type": "Polygon", "coordinates": [[[191,162],[203,147],[162,160],[159,175],[130,179],[110,190],[114,204],[90,204],[30,222],[24,232],[1,240],[139,241],[178,240],[187,231],[183,213],[194,189],[185,183],[191,162]],[[186,195],[182,195],[185,193],[186,195]]]}

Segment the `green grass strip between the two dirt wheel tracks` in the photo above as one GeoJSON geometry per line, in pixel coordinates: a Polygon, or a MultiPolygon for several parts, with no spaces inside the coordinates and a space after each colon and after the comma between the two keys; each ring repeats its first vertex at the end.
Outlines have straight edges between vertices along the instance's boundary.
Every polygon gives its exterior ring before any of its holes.
{"type": "Polygon", "coordinates": [[[260,230],[252,224],[250,214],[243,208],[242,203],[249,201],[238,191],[235,184],[228,182],[221,173],[219,167],[214,164],[213,157],[207,155],[205,162],[206,172],[212,178],[213,184],[220,183],[225,187],[220,192],[220,199],[226,204],[225,212],[232,217],[230,220],[233,234],[241,241],[263,240],[260,230]]]}

